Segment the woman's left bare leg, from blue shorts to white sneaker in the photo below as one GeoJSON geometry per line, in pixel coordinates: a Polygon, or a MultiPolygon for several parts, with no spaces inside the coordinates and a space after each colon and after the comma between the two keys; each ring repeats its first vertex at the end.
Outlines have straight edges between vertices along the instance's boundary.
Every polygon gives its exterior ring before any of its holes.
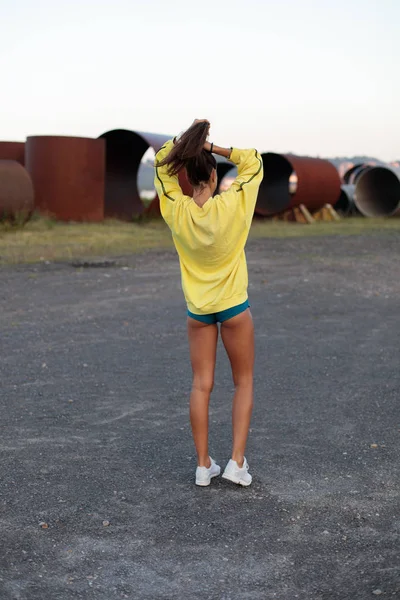
{"type": "Polygon", "coordinates": [[[209,467],[208,406],[214,386],[218,327],[188,317],[190,360],[193,370],[190,423],[199,467],[209,467]]]}

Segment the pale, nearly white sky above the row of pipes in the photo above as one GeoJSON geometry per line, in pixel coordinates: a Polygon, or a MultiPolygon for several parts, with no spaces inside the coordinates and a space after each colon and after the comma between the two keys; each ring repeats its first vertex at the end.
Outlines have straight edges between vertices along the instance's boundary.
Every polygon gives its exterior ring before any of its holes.
{"type": "Polygon", "coordinates": [[[176,134],[400,158],[400,0],[0,0],[0,140],[176,134]]]}

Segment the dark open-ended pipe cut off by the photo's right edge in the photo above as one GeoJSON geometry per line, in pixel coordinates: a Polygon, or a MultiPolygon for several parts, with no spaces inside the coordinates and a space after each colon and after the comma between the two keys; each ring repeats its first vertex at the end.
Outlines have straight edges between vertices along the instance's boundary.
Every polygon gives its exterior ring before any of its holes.
{"type": "Polygon", "coordinates": [[[400,206],[400,180],[389,167],[356,165],[344,175],[355,185],[354,203],[365,217],[388,217],[400,206]]]}

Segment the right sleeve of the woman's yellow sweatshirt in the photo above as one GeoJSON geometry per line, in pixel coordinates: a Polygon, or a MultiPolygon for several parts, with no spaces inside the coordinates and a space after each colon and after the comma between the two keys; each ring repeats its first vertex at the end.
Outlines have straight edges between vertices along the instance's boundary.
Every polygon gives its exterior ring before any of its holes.
{"type": "Polygon", "coordinates": [[[250,223],[257,202],[258,188],[264,176],[263,161],[257,150],[238,148],[232,148],[229,160],[237,166],[238,174],[231,187],[220,195],[225,202],[240,205],[246,221],[250,223]]]}

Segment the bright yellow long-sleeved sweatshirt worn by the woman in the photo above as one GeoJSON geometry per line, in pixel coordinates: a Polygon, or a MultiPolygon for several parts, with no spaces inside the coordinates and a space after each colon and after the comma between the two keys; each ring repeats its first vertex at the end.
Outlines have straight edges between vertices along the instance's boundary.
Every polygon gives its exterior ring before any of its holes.
{"type": "Polygon", "coordinates": [[[257,150],[233,148],[230,161],[238,167],[237,178],[200,207],[183,195],[167,166],[157,167],[172,147],[171,140],[156,154],[154,183],[178,252],[183,293],[190,312],[219,312],[247,300],[244,247],[263,178],[262,159],[257,150]]]}

